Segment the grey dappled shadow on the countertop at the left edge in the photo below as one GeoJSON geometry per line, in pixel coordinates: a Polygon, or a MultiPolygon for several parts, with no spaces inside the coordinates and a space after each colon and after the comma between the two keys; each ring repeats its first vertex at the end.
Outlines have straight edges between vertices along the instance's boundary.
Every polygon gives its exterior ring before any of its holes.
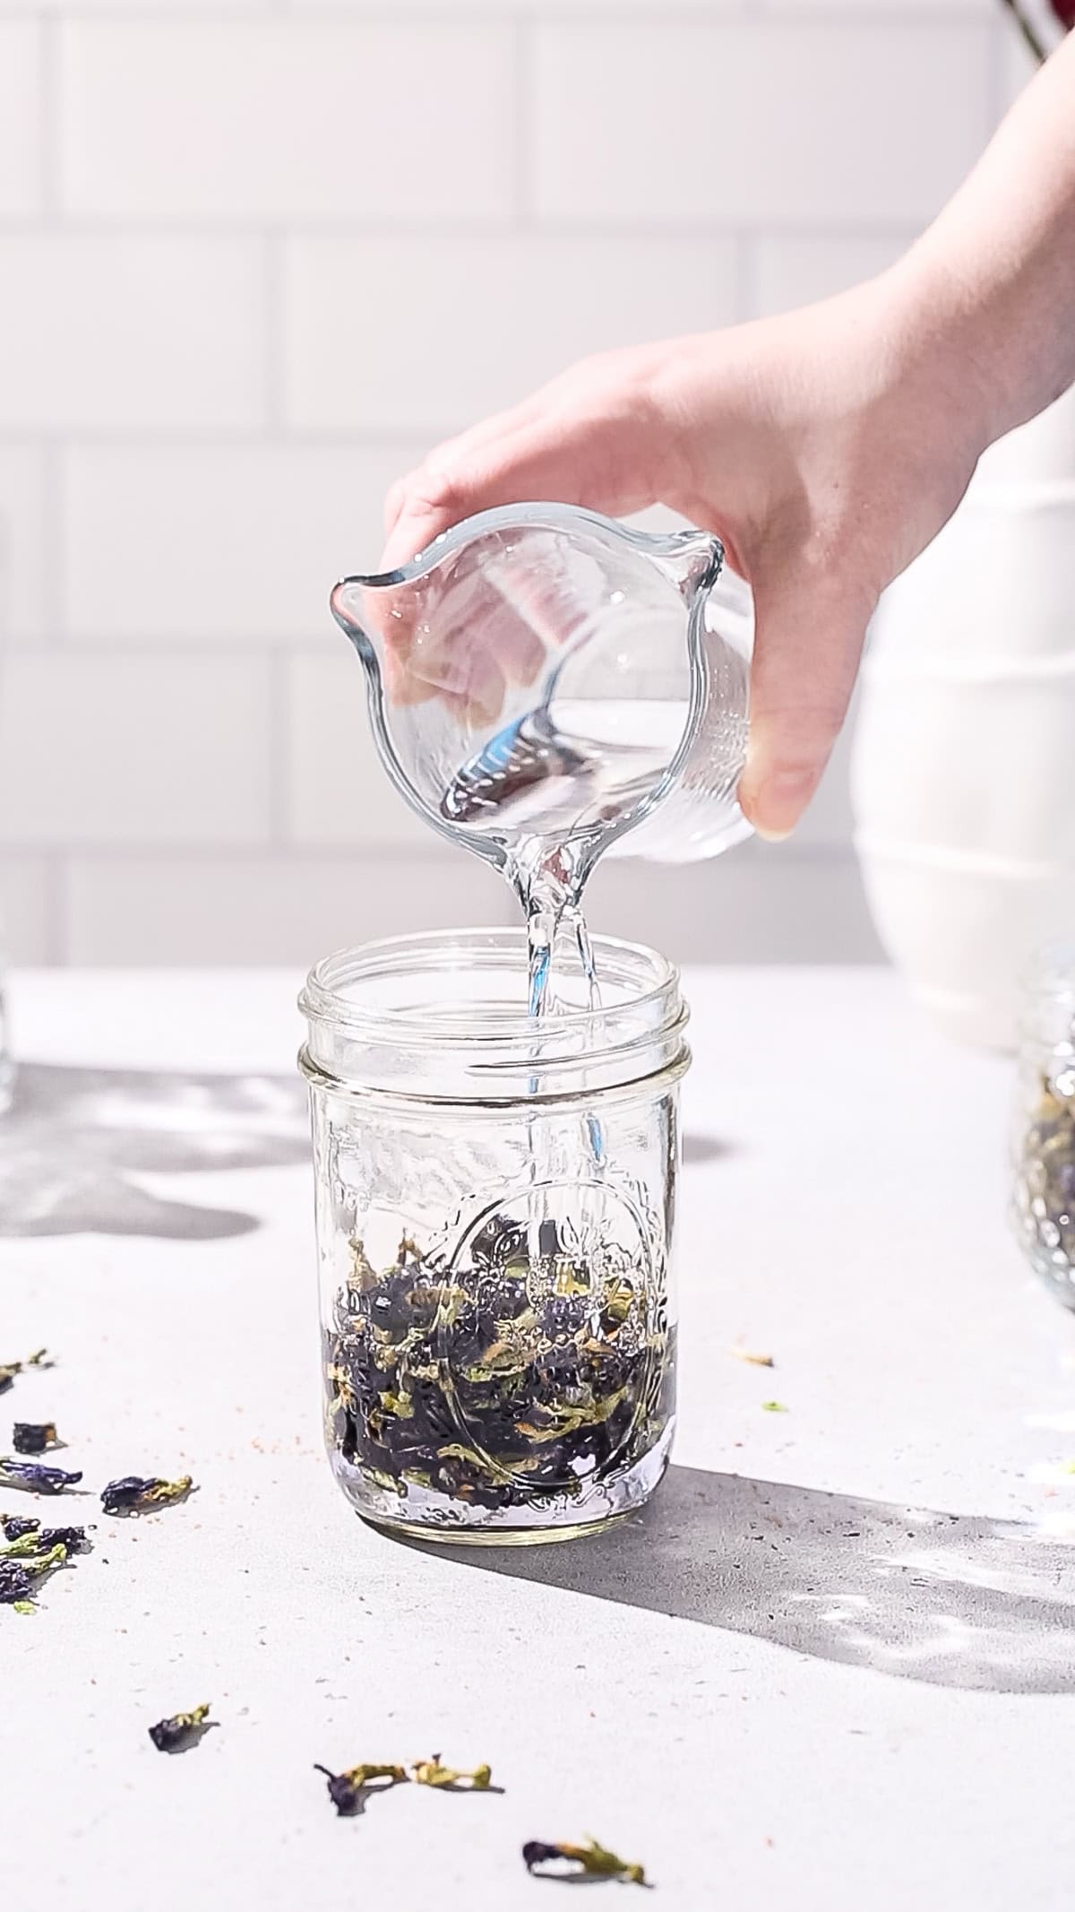
{"type": "Polygon", "coordinates": [[[307,1159],[298,1078],[19,1063],[0,1119],[0,1239],[248,1235],[258,1216],[166,1201],[139,1178],[307,1159]]]}

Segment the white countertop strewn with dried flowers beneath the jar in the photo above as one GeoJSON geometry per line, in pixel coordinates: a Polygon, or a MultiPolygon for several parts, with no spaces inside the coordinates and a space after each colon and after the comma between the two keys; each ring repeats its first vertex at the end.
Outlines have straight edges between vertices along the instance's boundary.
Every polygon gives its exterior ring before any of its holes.
{"type": "Polygon", "coordinates": [[[323,1457],[298,981],[15,979],[0,1359],[57,1365],[0,1451],[57,1419],[86,1486],[199,1493],[0,1491],[97,1520],[0,1608],[4,1902],[540,1912],[521,1843],[594,1832],[668,1912],[1069,1908],[1075,1319],[1006,1231],[1010,1065],[882,971],[689,975],[672,1474],[601,1539],[443,1556],[323,1457]],[[200,1700],[220,1728],[158,1755],[200,1700]],[[311,1771],[432,1751],[504,1795],[336,1820],[311,1771]]]}

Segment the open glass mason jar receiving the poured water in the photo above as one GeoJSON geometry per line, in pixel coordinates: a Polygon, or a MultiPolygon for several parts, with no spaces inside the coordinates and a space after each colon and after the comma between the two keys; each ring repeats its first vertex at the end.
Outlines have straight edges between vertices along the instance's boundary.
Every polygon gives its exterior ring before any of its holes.
{"type": "Polygon", "coordinates": [[[311,1088],[325,1430],[351,1505],[445,1541],[640,1507],[674,1432],[680,977],[596,939],[601,1006],[470,929],[321,962],[311,1088]]]}

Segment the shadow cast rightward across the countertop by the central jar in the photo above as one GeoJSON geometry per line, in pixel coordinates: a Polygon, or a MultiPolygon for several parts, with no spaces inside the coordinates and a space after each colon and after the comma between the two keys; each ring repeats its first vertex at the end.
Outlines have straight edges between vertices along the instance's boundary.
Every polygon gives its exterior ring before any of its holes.
{"type": "Polygon", "coordinates": [[[1075,1692],[1075,1545],[1031,1524],[672,1467],[649,1507],[592,1539],[420,1545],[812,1660],[976,1692],[1075,1692]]]}

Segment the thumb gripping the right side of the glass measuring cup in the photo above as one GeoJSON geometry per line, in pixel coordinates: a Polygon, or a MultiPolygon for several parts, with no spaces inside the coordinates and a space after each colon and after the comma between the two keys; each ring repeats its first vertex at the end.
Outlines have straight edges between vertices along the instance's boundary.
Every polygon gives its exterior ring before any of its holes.
{"type": "Polygon", "coordinates": [[[739,803],[758,836],[794,830],[829,763],[876,598],[758,581],[750,742],[739,803]]]}

